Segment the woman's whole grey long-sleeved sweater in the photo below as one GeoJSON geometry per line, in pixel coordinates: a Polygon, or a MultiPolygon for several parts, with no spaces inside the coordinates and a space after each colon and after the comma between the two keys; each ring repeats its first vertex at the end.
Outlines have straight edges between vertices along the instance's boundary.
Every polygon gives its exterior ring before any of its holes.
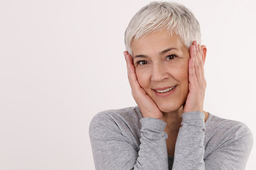
{"type": "Polygon", "coordinates": [[[136,106],[104,111],[90,123],[97,170],[245,169],[252,133],[243,123],[209,113],[183,113],[174,157],[168,156],[166,123],[143,118],[136,106]]]}

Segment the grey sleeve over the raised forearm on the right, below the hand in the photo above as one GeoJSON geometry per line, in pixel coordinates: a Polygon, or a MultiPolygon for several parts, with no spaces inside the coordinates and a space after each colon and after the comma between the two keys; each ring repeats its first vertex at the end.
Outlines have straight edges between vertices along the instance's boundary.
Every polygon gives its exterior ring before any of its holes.
{"type": "Polygon", "coordinates": [[[183,113],[174,152],[173,170],[204,169],[206,127],[201,112],[183,113]]]}

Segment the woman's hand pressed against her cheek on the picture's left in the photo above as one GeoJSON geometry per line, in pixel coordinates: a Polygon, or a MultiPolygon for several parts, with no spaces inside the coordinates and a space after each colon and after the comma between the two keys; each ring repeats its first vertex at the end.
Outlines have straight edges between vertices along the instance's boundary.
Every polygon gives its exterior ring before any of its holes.
{"type": "Polygon", "coordinates": [[[129,55],[127,51],[124,51],[124,57],[127,62],[127,74],[129,79],[129,84],[132,89],[132,96],[139,106],[140,111],[144,118],[162,118],[162,113],[156,106],[156,103],[146,94],[144,89],[139,86],[137,76],[135,73],[135,68],[132,60],[132,56],[129,55]]]}

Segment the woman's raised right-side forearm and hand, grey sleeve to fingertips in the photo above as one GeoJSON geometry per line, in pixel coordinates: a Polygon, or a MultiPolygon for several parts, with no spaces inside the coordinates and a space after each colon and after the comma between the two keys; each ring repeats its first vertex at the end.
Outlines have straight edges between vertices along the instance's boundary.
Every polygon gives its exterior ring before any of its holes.
{"type": "Polygon", "coordinates": [[[206,91],[206,79],[203,64],[206,47],[194,41],[190,47],[188,61],[189,93],[183,107],[181,128],[178,131],[174,152],[173,169],[205,169],[203,145],[205,138],[205,114],[203,100],[206,91]]]}

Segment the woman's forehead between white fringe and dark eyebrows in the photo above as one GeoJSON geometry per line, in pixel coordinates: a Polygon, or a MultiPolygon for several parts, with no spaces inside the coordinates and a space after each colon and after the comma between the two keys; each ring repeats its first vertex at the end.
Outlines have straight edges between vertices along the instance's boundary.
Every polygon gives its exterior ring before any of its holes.
{"type": "Polygon", "coordinates": [[[149,33],[138,40],[132,40],[131,47],[133,55],[159,53],[170,47],[177,50],[184,50],[184,47],[186,49],[178,35],[166,31],[149,33]]]}

